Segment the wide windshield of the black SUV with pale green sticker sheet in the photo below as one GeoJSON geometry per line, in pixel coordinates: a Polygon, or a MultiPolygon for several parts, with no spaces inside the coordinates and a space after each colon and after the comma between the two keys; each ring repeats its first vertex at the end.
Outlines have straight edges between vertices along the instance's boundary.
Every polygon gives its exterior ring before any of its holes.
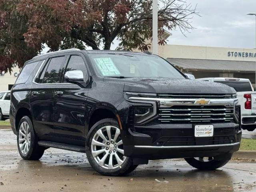
{"type": "Polygon", "coordinates": [[[96,72],[103,77],[166,77],[185,79],[171,64],[158,56],[140,54],[89,54],[96,72]]]}

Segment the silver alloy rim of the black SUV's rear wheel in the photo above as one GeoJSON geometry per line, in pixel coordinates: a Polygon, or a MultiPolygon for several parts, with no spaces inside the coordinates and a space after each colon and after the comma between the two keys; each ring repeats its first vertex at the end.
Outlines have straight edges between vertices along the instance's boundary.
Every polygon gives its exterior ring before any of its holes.
{"type": "Polygon", "coordinates": [[[22,122],[19,130],[19,147],[23,155],[26,155],[30,148],[31,132],[27,122],[22,122]]]}

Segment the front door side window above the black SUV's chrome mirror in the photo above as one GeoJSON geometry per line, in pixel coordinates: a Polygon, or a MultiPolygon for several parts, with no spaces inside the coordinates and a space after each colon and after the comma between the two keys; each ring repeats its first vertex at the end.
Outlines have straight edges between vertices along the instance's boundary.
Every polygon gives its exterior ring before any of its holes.
{"type": "MultiPolygon", "coordinates": [[[[87,76],[87,70],[86,70],[84,60],[82,57],[78,55],[72,55],[70,57],[70,60],[68,61],[68,66],[65,72],[74,71],[74,70],[82,71],[84,74],[84,78],[87,76]]],[[[64,82],[66,82],[65,79],[64,79],[64,82]]]]}

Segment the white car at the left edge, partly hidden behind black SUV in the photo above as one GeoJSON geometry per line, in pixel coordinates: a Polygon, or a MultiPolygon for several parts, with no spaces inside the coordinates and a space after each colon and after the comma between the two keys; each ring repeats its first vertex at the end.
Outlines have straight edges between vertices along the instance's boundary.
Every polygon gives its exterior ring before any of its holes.
{"type": "Polygon", "coordinates": [[[10,91],[0,92],[0,120],[9,117],[10,113],[10,91]]]}

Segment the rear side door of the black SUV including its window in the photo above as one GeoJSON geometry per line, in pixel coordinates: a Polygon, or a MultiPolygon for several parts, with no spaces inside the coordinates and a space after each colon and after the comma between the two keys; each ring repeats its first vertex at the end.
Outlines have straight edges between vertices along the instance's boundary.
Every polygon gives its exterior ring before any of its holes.
{"type": "Polygon", "coordinates": [[[56,55],[42,64],[30,92],[35,131],[41,140],[54,139],[54,90],[61,82],[66,55],[56,55]]]}

